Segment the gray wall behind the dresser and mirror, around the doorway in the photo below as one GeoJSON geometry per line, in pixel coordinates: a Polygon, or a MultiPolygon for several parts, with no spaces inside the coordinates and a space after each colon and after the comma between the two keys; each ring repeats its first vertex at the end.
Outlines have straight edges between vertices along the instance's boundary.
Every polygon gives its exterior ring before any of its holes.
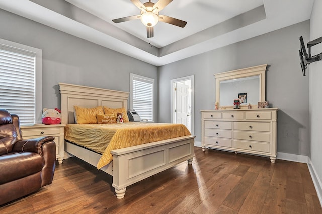
{"type": "Polygon", "coordinates": [[[196,141],[201,141],[200,110],[213,109],[213,74],[268,64],[266,100],[278,107],[278,152],[308,155],[308,78],[299,67],[299,37],[308,38],[309,21],[159,67],[160,122],[170,122],[170,80],[194,75],[196,141]]]}

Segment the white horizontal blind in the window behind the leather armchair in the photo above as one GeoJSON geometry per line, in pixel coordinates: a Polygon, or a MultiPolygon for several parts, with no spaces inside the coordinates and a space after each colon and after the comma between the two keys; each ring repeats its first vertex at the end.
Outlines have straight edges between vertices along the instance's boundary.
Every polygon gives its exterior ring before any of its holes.
{"type": "Polygon", "coordinates": [[[0,108],[35,123],[36,53],[0,46],[0,108]]]}

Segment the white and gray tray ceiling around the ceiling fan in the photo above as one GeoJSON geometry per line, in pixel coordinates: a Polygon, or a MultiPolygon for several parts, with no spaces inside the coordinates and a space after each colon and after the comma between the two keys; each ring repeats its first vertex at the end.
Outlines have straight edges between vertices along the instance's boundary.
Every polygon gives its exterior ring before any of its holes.
{"type": "Polygon", "coordinates": [[[187,25],[159,22],[150,39],[139,19],[112,22],[140,13],[130,0],[0,0],[0,8],[161,66],[308,20],[313,2],[173,0],[160,14],[187,25]]]}

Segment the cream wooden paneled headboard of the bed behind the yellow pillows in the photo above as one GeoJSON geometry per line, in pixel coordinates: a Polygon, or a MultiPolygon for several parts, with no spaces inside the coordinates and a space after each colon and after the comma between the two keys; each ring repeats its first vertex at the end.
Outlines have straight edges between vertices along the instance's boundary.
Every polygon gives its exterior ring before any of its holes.
{"type": "Polygon", "coordinates": [[[129,92],[58,83],[61,94],[61,123],[73,124],[74,105],[92,108],[107,106],[127,109],[129,92]]]}

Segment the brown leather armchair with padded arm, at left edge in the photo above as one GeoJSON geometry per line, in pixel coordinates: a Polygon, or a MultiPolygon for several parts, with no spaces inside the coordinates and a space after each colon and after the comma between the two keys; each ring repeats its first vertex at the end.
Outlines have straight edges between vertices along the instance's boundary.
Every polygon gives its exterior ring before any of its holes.
{"type": "Polygon", "coordinates": [[[19,117],[0,109],[0,205],[52,183],[54,137],[23,140],[19,117]]]}

